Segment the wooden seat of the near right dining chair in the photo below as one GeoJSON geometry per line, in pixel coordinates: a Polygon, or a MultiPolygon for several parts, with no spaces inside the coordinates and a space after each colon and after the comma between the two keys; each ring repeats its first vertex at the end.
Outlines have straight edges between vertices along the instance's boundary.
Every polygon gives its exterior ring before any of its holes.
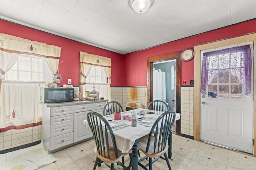
{"type": "MultiPolygon", "coordinates": [[[[164,154],[168,151],[168,144],[166,144],[164,150],[162,150],[161,152],[157,152],[157,149],[156,149],[156,151],[154,153],[154,143],[155,143],[154,140],[155,140],[155,137],[152,136],[149,150],[148,150],[148,152],[146,152],[146,147],[147,147],[147,144],[148,144],[148,136],[140,139],[140,142],[138,144],[138,150],[142,151],[146,156],[148,156],[150,158],[156,158],[156,157],[161,156],[162,154],[164,154]]],[[[161,145],[162,145],[162,143],[160,143],[160,146],[161,145]]]]}

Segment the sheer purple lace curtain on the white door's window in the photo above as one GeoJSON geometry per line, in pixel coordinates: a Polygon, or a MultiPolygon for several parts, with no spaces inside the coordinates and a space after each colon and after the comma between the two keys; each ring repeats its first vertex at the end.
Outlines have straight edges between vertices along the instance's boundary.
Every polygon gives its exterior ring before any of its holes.
{"type": "Polygon", "coordinates": [[[218,70],[229,70],[237,76],[243,85],[244,94],[252,92],[252,55],[250,45],[232,47],[203,54],[201,71],[201,93],[206,94],[206,87],[217,75],[218,70]]]}

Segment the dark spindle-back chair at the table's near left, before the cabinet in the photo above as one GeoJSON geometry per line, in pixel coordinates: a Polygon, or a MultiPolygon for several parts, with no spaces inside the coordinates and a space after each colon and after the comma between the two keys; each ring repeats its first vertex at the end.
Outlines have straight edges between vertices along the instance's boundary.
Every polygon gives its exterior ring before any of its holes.
{"type": "Polygon", "coordinates": [[[111,170],[114,170],[115,163],[121,165],[124,169],[130,169],[132,166],[132,150],[130,150],[128,153],[122,153],[117,149],[116,139],[108,121],[106,121],[106,119],[100,115],[100,113],[96,113],[94,111],[87,113],[87,121],[96,144],[94,152],[97,157],[93,170],[96,169],[97,165],[100,166],[101,163],[105,163],[108,167],[110,167],[111,170]],[[110,143],[112,143],[112,147],[109,145],[110,143]],[[130,164],[128,167],[119,161],[123,156],[127,154],[130,156],[130,164]]]}

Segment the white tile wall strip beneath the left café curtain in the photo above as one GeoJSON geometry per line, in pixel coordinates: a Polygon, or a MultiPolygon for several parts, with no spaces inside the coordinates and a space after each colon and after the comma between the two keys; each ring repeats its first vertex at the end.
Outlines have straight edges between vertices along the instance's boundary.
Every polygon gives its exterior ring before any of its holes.
{"type": "Polygon", "coordinates": [[[42,125],[26,129],[12,129],[0,133],[0,150],[10,149],[41,140],[42,125]]]}

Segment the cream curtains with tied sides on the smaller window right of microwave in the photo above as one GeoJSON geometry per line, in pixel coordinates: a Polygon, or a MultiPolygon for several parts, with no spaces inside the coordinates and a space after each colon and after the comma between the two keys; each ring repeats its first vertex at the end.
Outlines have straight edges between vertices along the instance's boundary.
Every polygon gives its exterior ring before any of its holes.
{"type": "Polygon", "coordinates": [[[92,66],[102,66],[108,78],[109,84],[98,84],[98,89],[95,90],[100,93],[100,97],[104,97],[111,101],[111,59],[99,55],[88,54],[80,51],[80,89],[82,96],[86,96],[86,91],[92,90],[92,84],[86,84],[86,77],[90,73],[92,66]]]}

